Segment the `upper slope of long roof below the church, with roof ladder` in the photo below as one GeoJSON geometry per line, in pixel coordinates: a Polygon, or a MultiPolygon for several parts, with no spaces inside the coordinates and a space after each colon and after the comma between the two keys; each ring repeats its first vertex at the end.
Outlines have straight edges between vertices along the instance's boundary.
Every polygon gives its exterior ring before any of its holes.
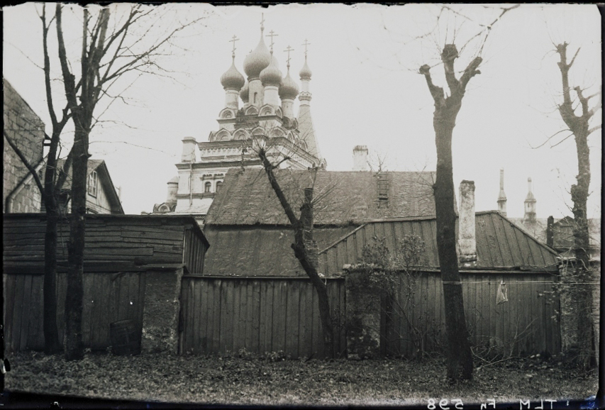
{"type": "MultiPolygon", "coordinates": [[[[276,170],[298,215],[304,188],[313,187],[316,225],[345,226],[376,218],[434,216],[433,172],[388,172],[388,198],[379,200],[375,172],[276,170]]],[[[265,171],[231,169],[210,206],[210,225],[288,225],[265,171]]]]}

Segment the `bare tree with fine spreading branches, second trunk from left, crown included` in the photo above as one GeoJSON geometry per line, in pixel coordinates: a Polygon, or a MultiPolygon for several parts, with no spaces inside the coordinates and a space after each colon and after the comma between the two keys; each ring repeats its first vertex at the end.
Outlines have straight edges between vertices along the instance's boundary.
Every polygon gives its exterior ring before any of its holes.
{"type": "MultiPolygon", "coordinates": [[[[130,84],[124,84],[127,74],[132,81],[145,73],[165,72],[158,65],[160,55],[170,54],[170,40],[188,26],[204,18],[187,23],[166,23],[164,30],[152,38],[152,26],[160,18],[167,17],[165,10],[141,4],[104,8],[87,7],[82,10],[81,48],[79,64],[72,64],[64,38],[62,4],[57,4],[55,20],[57,29],[58,59],[61,67],[63,92],[67,110],[74,126],[71,151],[72,196],[70,215],[70,239],[67,244],[67,297],[65,300],[65,358],[77,360],[83,357],[82,346],[82,274],[84,272],[84,231],[86,214],[87,162],[89,136],[98,115],[95,109],[101,99],[122,99],[121,95],[130,84]],[[166,29],[168,27],[168,29],[166,29]],[[79,72],[77,67],[79,66],[79,72]],[[118,89],[117,92],[114,92],[118,89]],[[120,91],[121,90],[121,91],[120,91]]],[[[44,14],[43,14],[44,15],[44,14]]],[[[162,20],[162,21],[166,21],[162,20]]],[[[45,24],[45,21],[43,20],[45,24]]],[[[49,23],[50,25],[50,23],[49,23]]],[[[45,28],[45,31],[47,29],[45,28]]],[[[71,44],[71,43],[70,43],[71,44]]],[[[45,57],[49,55],[48,43],[44,43],[45,57]]],[[[132,82],[131,81],[131,82],[132,82]]],[[[47,85],[48,89],[48,85],[47,85]]],[[[52,101],[52,96],[49,96],[52,101]]],[[[111,102],[108,104],[111,105],[111,102]]],[[[51,114],[52,116],[52,114],[51,114]]],[[[64,117],[65,118],[65,117],[64,117]]],[[[54,130],[53,130],[54,131],[54,130]]]]}

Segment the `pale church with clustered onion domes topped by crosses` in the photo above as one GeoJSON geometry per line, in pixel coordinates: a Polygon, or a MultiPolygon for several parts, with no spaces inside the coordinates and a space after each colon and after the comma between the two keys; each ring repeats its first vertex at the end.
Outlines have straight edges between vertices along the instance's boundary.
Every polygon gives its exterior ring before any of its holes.
{"type": "Polygon", "coordinates": [[[265,45],[264,20],[260,26],[260,41],[243,62],[243,71],[235,67],[235,41],[231,67],[221,76],[225,104],[218,113],[218,130],[211,131],[207,141],[186,137],[182,140],[178,176],[170,179],[167,200],[156,204],[153,214],[191,214],[202,221],[216,192],[221,189],[229,168],[262,168],[256,144],[262,144],[274,164],[280,168],[307,170],[325,169],[313,121],[311,120],[311,70],[305,62],[299,72],[301,87],[290,75],[288,46],[287,70],[284,77],[273,55],[273,31],[270,48],[265,45]],[[294,100],[300,101],[298,116],[294,100]],[[241,101],[240,101],[241,100],[241,101]],[[196,153],[196,150],[199,152],[196,153]],[[199,160],[197,157],[199,155],[199,160]]]}

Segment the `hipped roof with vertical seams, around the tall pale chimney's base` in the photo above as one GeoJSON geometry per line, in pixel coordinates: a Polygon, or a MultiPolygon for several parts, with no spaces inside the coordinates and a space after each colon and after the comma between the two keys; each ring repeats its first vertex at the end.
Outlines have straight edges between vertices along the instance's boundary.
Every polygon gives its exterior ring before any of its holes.
{"type": "MultiPolygon", "coordinates": [[[[557,271],[557,254],[538,242],[498,211],[479,212],[475,216],[477,269],[557,271]]],[[[320,250],[319,272],[338,275],[343,265],[361,262],[364,245],[372,237],[386,238],[392,253],[405,235],[423,238],[426,244],[426,266],[439,267],[436,221],[434,218],[408,218],[396,221],[374,221],[320,250]]]]}

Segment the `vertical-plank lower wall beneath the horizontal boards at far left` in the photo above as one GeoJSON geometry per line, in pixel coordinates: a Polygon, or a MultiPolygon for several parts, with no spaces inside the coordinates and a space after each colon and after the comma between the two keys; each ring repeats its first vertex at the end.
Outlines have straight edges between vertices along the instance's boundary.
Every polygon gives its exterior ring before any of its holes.
{"type": "MultiPolygon", "coordinates": [[[[3,275],[4,340],[7,351],[43,350],[43,275],[3,275]]],[[[82,341],[84,347],[111,345],[109,323],[132,319],[143,328],[144,272],[84,273],[82,341]]],[[[57,327],[65,332],[67,275],[57,275],[57,327]]]]}

